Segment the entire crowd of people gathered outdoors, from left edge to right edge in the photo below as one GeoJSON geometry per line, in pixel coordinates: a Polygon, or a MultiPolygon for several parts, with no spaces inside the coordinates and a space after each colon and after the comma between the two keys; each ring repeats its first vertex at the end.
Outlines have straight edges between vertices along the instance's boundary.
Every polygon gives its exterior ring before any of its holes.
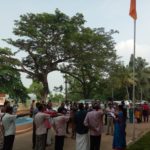
{"type": "Polygon", "coordinates": [[[67,134],[76,140],[76,150],[100,150],[103,127],[106,125],[106,135],[112,135],[112,148],[125,150],[126,122],[133,123],[133,111],[139,123],[139,113],[143,113],[144,122],[148,121],[149,107],[145,103],[133,110],[132,105],[126,107],[109,101],[105,108],[101,108],[99,101],[89,104],[76,102],[62,102],[57,110],[52,102],[32,101],[29,114],[13,114],[13,108],[6,102],[1,113],[1,127],[4,128],[4,142],[2,150],[12,150],[15,139],[15,120],[17,117],[30,115],[33,118],[32,148],[45,150],[51,144],[52,132],[55,132],[55,150],[63,150],[67,134]],[[139,111],[142,109],[142,111],[139,111]],[[71,132],[71,133],[70,133],[71,132]]]}

